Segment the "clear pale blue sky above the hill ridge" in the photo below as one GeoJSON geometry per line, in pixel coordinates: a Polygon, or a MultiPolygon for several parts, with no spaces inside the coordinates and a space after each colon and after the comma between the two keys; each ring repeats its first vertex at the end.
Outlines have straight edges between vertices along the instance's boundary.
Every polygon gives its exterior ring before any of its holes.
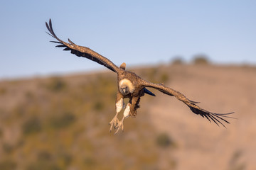
{"type": "Polygon", "coordinates": [[[55,48],[59,38],[127,67],[191,61],[256,64],[256,1],[1,1],[0,79],[105,69],[55,48]]]}

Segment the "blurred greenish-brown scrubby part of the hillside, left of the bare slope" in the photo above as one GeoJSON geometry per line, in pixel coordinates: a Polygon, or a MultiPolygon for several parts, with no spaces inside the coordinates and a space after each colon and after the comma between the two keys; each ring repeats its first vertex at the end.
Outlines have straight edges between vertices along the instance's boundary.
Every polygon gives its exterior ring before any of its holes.
{"type": "MultiPolygon", "coordinates": [[[[164,70],[144,74],[169,81],[164,70]]],[[[0,82],[0,99],[11,96],[9,89],[21,96],[0,107],[0,169],[159,169],[157,135],[144,108],[125,121],[124,133],[109,132],[116,79],[103,73],[0,82]]]]}

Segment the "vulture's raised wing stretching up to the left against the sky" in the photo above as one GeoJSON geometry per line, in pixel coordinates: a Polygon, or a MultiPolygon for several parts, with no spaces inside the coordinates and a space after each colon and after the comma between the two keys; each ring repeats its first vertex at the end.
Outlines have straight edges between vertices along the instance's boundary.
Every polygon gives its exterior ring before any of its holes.
{"type": "Polygon", "coordinates": [[[114,63],[112,63],[106,57],[103,57],[102,55],[98,54],[97,52],[91,50],[88,47],[82,47],[79,45],[75,45],[75,43],[72,42],[70,39],[68,39],[69,43],[64,42],[63,40],[60,40],[53,32],[51,20],[49,21],[49,24],[46,23],[46,28],[50,32],[48,34],[50,36],[52,36],[53,38],[55,38],[56,40],[58,40],[58,41],[50,41],[50,42],[55,42],[55,43],[60,44],[60,45],[56,45],[55,47],[65,47],[63,50],[65,50],[65,51],[70,50],[72,54],[77,55],[78,57],[86,57],[87,59],[90,59],[94,62],[102,64],[105,67],[107,67],[108,69],[112,70],[113,72],[117,72],[117,70],[119,69],[119,67],[117,67],[114,63]]]}

